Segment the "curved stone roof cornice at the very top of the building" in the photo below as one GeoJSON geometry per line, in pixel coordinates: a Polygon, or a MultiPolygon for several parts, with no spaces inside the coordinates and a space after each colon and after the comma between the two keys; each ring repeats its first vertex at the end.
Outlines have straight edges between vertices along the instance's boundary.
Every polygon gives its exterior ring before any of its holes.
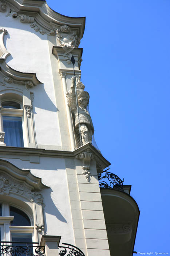
{"type": "Polygon", "coordinates": [[[53,11],[46,1],[33,0],[2,0],[0,12],[21,23],[29,23],[37,33],[55,35],[62,25],[71,26],[77,38],[82,38],[85,17],[72,18],[53,11]]]}

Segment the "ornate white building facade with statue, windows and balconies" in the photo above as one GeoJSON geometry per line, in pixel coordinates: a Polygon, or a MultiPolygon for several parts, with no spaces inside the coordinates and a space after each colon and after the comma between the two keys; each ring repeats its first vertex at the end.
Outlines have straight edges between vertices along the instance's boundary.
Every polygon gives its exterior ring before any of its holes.
{"type": "Polygon", "coordinates": [[[102,182],[110,162],[91,143],[85,18],[1,0],[0,24],[1,253],[132,255],[138,206],[117,176],[102,182]]]}

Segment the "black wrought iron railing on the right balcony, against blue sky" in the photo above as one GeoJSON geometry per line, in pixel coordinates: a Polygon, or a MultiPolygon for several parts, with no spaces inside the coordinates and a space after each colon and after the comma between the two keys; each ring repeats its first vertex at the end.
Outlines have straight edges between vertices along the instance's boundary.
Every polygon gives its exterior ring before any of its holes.
{"type": "Polygon", "coordinates": [[[103,173],[99,173],[98,179],[100,188],[110,188],[123,191],[124,179],[120,180],[120,178],[114,173],[104,171],[103,173]]]}

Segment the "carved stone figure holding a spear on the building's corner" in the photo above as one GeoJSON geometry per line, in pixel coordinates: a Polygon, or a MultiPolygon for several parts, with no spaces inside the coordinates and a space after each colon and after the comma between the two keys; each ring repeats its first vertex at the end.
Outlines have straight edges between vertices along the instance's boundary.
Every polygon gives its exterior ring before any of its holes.
{"type": "Polygon", "coordinates": [[[68,94],[68,102],[74,113],[75,117],[75,131],[79,134],[79,122],[80,122],[80,133],[82,138],[83,145],[92,141],[92,135],[94,134],[94,127],[91,120],[91,116],[87,111],[87,105],[89,102],[89,94],[87,91],[84,91],[84,84],[79,82],[76,85],[77,91],[77,99],[78,99],[78,111],[76,108],[76,101],[75,101],[75,90],[74,90],[74,83],[75,83],[75,76],[72,77],[72,86],[71,90],[68,94]],[[79,113],[79,118],[78,118],[79,113]]]}

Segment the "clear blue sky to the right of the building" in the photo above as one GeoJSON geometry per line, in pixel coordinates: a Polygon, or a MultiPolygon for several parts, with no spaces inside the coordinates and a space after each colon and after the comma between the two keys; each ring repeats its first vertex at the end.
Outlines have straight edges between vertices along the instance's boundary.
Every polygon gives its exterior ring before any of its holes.
{"type": "Polygon", "coordinates": [[[96,143],[141,210],[134,250],[170,254],[170,1],[47,3],[86,16],[82,82],[96,143]]]}

